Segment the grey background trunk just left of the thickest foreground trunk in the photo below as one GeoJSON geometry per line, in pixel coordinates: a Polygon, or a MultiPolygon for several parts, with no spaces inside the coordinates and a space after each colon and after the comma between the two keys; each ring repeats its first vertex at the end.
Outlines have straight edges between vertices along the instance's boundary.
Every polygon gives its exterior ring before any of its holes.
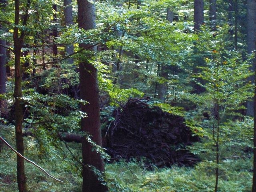
{"type": "MultiPolygon", "coordinates": [[[[72,15],[72,0],[64,0],[64,16],[65,16],[65,25],[72,25],[74,24],[73,22],[73,15],[72,15]]],[[[74,52],[74,45],[66,45],[65,46],[65,52],[66,54],[72,54],[74,52]]],[[[69,64],[74,63],[74,60],[72,58],[68,58],[67,62],[69,64]]]]}

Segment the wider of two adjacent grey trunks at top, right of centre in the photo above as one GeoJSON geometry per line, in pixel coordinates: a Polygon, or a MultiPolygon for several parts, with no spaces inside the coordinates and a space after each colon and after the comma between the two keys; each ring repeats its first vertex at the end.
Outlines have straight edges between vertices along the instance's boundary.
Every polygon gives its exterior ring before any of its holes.
{"type": "Polygon", "coordinates": [[[204,0],[194,0],[194,30],[199,31],[204,23],[204,0]]]}

